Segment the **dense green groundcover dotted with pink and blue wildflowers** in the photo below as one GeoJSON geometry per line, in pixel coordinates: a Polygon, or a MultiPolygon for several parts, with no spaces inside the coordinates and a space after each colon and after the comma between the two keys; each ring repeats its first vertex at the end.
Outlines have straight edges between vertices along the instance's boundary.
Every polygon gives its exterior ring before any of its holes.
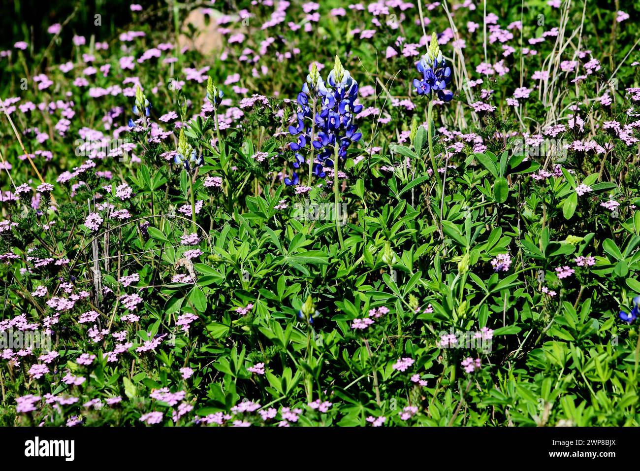
{"type": "Polygon", "coordinates": [[[0,424],[639,425],[638,5],[229,4],[0,51],[0,424]]]}

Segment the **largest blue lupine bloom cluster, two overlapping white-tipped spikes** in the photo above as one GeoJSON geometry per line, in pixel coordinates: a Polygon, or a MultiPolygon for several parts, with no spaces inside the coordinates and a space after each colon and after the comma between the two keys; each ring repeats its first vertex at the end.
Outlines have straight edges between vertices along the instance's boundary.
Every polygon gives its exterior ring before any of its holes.
{"type": "MultiPolygon", "coordinates": [[[[289,147],[296,151],[295,161],[292,163],[295,169],[305,163],[305,156],[300,152],[307,147],[311,141],[311,126],[316,126],[317,133],[311,145],[317,153],[314,155],[312,172],[318,178],[324,178],[325,165],[333,166],[333,155],[336,145],[338,146],[338,156],[345,159],[347,149],[352,142],[357,142],[362,138],[362,133],[358,132],[358,126],[354,124],[354,115],[362,111],[361,104],[355,104],[358,99],[358,82],[344,70],[340,59],[336,56],[333,70],[324,83],[317,72],[314,64],[312,72],[307,76],[307,82],[303,85],[302,91],[298,94],[298,122],[296,126],[289,126],[289,133],[298,136],[297,142],[291,142],[289,147]],[[313,118],[313,110],[309,103],[314,99],[320,100],[321,108],[316,113],[316,121],[309,122],[313,118]]],[[[293,173],[292,178],[285,178],[285,185],[297,185],[298,174],[293,173]]]]}

